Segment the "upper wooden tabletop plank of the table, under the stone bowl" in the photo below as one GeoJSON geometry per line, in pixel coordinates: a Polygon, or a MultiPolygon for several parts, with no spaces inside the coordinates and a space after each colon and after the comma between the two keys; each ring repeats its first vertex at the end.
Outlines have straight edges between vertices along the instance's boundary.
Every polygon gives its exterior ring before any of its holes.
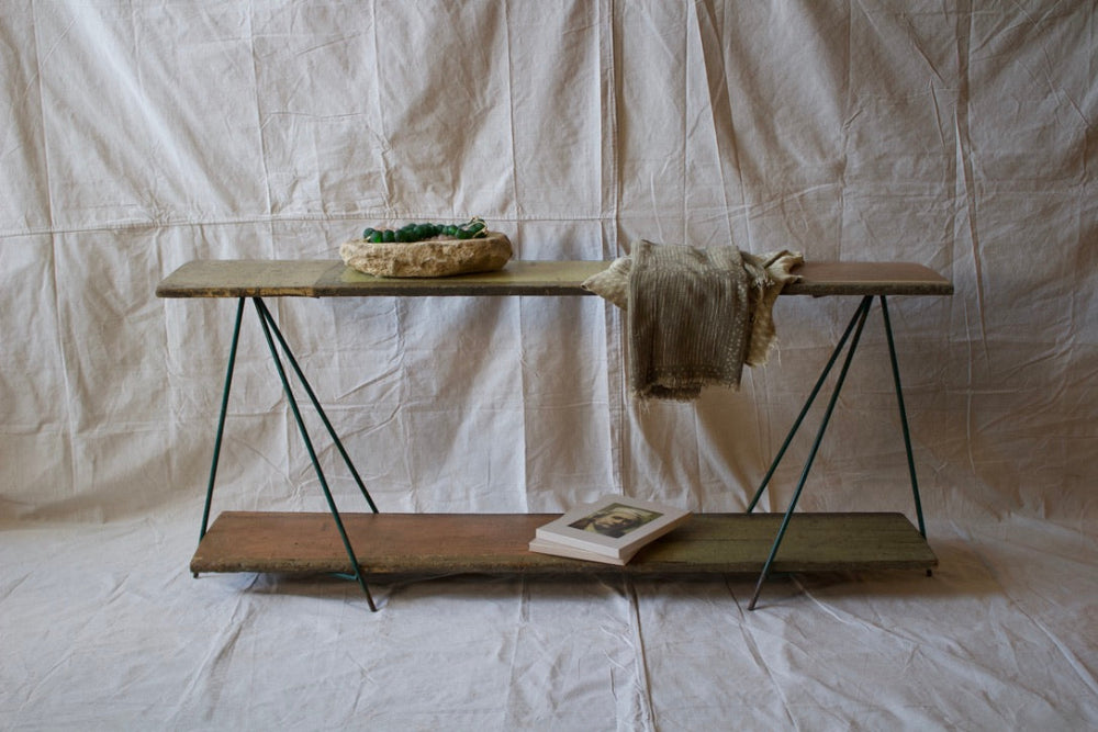
{"type": "MultiPolygon", "coordinates": [[[[378,278],[338,260],[195,260],[165,278],[159,297],[590,295],[581,283],[608,261],[512,261],[497,272],[378,278]]],[[[806,262],[789,295],[949,295],[953,284],[911,262],[806,262]]]]}

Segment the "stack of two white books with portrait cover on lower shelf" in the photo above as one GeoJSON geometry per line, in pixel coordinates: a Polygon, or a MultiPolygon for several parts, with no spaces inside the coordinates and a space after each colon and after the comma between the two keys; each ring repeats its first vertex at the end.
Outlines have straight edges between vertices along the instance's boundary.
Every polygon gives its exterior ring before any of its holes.
{"type": "Polygon", "coordinates": [[[690,518],[690,511],[625,496],[603,496],[539,527],[530,551],[625,565],[649,542],[690,518]]]}

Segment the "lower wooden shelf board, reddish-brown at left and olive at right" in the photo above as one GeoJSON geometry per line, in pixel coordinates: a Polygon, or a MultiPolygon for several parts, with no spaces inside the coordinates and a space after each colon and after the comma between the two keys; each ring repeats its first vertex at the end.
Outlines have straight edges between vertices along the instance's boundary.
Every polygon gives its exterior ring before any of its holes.
{"type": "MultiPolygon", "coordinates": [[[[625,566],[527,548],[559,514],[343,514],[367,578],[449,574],[758,574],[778,514],[697,514],[625,566]]],[[[929,570],[938,558],[903,514],[795,514],[772,572],[929,570]]],[[[206,531],[191,571],[351,572],[329,514],[226,511],[206,531]]]]}

